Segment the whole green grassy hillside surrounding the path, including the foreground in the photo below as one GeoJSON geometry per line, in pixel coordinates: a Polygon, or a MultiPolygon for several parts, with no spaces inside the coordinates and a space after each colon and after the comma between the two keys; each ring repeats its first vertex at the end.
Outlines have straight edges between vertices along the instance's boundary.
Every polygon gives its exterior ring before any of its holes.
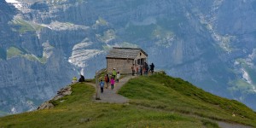
{"type": "Polygon", "coordinates": [[[210,119],[256,126],[256,114],[243,104],[161,74],[125,84],[119,94],[130,104],[91,102],[94,92],[88,84],[73,84],[73,94],[54,109],[7,116],[0,127],[218,127],[210,119]]]}

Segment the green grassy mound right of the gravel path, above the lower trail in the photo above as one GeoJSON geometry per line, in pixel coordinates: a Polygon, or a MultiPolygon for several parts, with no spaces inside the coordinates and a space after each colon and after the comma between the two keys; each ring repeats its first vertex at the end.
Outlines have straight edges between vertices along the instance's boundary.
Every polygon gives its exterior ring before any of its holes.
{"type": "Polygon", "coordinates": [[[128,84],[119,93],[132,99],[131,104],[256,126],[252,109],[235,100],[214,96],[182,79],[155,75],[150,79],[132,79],[128,84]]]}

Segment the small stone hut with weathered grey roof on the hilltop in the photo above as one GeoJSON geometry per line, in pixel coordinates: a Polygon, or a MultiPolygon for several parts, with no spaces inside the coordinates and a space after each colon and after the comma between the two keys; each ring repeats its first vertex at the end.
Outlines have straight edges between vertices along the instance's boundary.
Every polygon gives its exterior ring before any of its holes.
{"type": "Polygon", "coordinates": [[[108,73],[112,73],[113,68],[121,74],[131,73],[132,64],[136,67],[143,65],[148,59],[148,54],[139,48],[117,48],[113,47],[106,57],[108,73]]]}

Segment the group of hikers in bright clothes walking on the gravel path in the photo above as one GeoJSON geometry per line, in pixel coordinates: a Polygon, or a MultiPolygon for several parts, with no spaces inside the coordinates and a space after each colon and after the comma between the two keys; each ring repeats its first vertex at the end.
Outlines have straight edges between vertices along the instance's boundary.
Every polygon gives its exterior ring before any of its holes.
{"type": "Polygon", "coordinates": [[[107,73],[107,74],[105,75],[105,78],[104,78],[105,82],[101,79],[100,84],[99,84],[100,87],[101,87],[101,92],[103,93],[104,87],[105,87],[106,89],[108,89],[108,84],[109,84],[109,83],[110,83],[110,85],[111,85],[111,90],[113,90],[113,85],[115,84],[115,81],[116,81],[116,82],[119,82],[120,76],[121,76],[121,74],[120,74],[119,72],[116,72],[116,69],[115,69],[115,68],[113,68],[112,76],[111,76],[110,79],[109,79],[109,75],[108,75],[108,73],[107,73]],[[106,86],[105,86],[105,83],[106,83],[106,86]]]}

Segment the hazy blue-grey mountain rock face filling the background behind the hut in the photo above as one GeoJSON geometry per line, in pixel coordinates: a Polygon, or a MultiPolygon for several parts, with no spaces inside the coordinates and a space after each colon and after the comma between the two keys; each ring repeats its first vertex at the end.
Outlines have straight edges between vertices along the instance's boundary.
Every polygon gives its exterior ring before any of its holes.
{"type": "Polygon", "coordinates": [[[252,0],[16,0],[0,2],[0,111],[34,109],[84,73],[106,67],[112,46],[256,109],[252,0]],[[18,89],[18,90],[17,90],[18,89]]]}

